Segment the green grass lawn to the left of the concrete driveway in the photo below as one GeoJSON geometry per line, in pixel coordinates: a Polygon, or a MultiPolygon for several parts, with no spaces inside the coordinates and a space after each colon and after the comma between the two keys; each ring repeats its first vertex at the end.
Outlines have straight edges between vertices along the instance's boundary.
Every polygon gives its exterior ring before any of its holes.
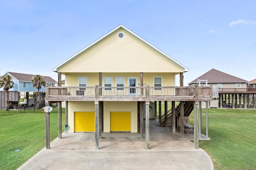
{"type": "MultiPolygon", "coordinates": [[[[0,170],[14,170],[46,146],[45,113],[41,109],[25,113],[0,110],[0,170]],[[18,150],[14,152],[14,150],[18,150]]],[[[65,125],[65,110],[62,110],[65,125]]],[[[63,131],[63,130],[62,130],[63,131]]],[[[58,137],[58,109],[50,113],[50,141],[58,137]]]]}

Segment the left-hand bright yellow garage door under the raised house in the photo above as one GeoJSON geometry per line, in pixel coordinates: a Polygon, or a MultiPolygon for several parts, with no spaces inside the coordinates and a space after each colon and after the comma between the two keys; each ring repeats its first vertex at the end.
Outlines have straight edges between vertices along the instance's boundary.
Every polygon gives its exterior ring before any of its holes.
{"type": "Polygon", "coordinates": [[[94,112],[75,112],[74,132],[95,132],[94,112]]]}

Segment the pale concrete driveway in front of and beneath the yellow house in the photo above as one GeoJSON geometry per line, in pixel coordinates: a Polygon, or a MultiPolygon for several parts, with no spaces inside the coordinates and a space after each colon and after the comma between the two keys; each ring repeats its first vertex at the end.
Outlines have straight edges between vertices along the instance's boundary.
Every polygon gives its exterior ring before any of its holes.
{"type": "Polygon", "coordinates": [[[193,133],[172,133],[150,120],[150,150],[140,133],[103,133],[95,150],[94,133],[63,133],[62,139],[43,148],[19,170],[213,170],[212,160],[201,148],[194,149],[193,133]]]}

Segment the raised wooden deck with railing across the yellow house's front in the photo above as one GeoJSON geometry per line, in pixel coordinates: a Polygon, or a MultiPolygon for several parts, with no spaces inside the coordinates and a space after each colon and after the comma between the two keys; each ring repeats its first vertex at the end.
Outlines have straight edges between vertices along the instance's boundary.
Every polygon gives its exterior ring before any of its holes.
{"type": "Polygon", "coordinates": [[[210,87],[46,87],[45,101],[210,101],[210,87]]]}

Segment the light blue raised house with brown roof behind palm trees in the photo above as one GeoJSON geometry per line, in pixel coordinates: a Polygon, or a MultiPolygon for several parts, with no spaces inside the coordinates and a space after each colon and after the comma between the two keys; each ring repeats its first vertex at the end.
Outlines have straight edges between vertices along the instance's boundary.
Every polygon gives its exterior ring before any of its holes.
{"type": "MultiPolygon", "coordinates": [[[[24,98],[26,98],[26,99],[29,98],[29,94],[34,94],[34,96],[36,96],[35,94],[38,92],[38,89],[32,87],[32,83],[31,83],[31,79],[35,75],[14,73],[14,72],[9,72],[9,71],[4,73],[4,75],[11,75],[13,77],[12,81],[14,82],[14,87],[12,89],[9,89],[9,91],[18,91],[19,96],[23,95],[24,98]]],[[[54,79],[52,79],[49,76],[44,76],[44,77],[45,77],[46,85],[49,85],[49,86],[56,85],[57,82],[54,79]]],[[[41,96],[45,95],[45,90],[46,90],[46,87],[42,87],[40,89],[41,96]]],[[[0,91],[4,91],[3,87],[0,88],[0,91]]],[[[13,101],[13,102],[15,102],[16,105],[19,104],[18,100],[13,101]]],[[[34,103],[36,103],[36,99],[30,99],[30,100],[27,100],[27,102],[25,102],[25,104],[28,104],[28,105],[32,105],[34,103]]],[[[12,104],[14,104],[14,103],[12,103],[12,104]]]]}

